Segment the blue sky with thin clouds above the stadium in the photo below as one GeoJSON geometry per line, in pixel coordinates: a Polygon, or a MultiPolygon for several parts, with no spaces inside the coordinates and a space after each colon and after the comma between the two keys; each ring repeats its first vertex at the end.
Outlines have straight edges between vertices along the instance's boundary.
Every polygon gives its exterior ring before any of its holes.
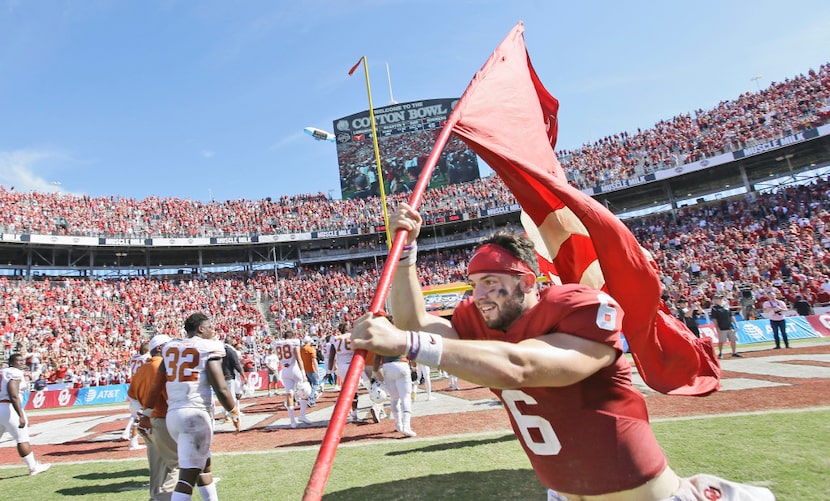
{"type": "Polygon", "coordinates": [[[457,97],[519,20],[559,148],[830,61],[824,0],[0,0],[0,184],[339,197],[334,145],[302,130],[368,108],[361,56],[375,106],[387,63],[399,102],[457,97]]]}

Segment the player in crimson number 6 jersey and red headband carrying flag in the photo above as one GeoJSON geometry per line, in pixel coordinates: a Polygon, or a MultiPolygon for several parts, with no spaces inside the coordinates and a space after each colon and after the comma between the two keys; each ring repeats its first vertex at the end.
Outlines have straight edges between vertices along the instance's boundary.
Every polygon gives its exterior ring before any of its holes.
{"type": "Polygon", "coordinates": [[[767,489],[669,467],[631,382],[620,340],[623,312],[609,295],[568,284],[539,291],[533,244],[498,233],[468,264],[473,287],[452,321],[427,313],[416,272],[421,217],[401,204],[390,227],[409,232],[391,313],[364,315],[352,345],[488,386],[501,400],[551,500],[774,499],[767,489]],[[396,327],[397,326],[397,327],[396,327]]]}

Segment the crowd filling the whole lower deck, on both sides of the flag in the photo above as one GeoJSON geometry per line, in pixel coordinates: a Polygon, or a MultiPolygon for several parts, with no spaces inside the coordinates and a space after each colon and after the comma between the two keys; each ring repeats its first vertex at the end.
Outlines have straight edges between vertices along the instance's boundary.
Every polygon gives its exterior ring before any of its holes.
{"type": "MultiPolygon", "coordinates": [[[[825,179],[756,200],[741,196],[683,208],[676,218],[650,216],[628,224],[658,263],[669,304],[682,298],[708,308],[719,292],[741,311],[744,290],[756,308],[774,289],[790,304],[797,296],[811,304],[830,303],[828,211],[825,179]]],[[[464,280],[470,250],[422,252],[422,283],[464,280]]],[[[259,357],[284,332],[331,334],[338,323],[366,311],[380,266],[374,261],[308,265],[281,269],[279,277],[264,272],[175,280],[0,277],[0,333],[6,353],[29,354],[33,375],[43,374],[49,382],[123,382],[141,338],[179,335],[180,319],[190,311],[208,312],[220,334],[259,357]]]]}

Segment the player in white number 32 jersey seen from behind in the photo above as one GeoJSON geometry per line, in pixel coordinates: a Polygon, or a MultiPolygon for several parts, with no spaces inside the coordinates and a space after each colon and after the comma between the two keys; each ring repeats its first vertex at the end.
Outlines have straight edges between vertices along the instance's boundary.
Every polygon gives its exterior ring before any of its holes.
{"type": "Polygon", "coordinates": [[[189,500],[194,483],[202,499],[217,500],[210,473],[215,415],[211,388],[222,407],[230,411],[237,430],[239,406],[222,375],[225,347],[216,339],[210,319],[204,313],[194,313],[185,320],[184,330],[186,339],[164,345],[159,367],[167,380],[167,428],[179,455],[179,480],[171,500],[189,500]]]}

